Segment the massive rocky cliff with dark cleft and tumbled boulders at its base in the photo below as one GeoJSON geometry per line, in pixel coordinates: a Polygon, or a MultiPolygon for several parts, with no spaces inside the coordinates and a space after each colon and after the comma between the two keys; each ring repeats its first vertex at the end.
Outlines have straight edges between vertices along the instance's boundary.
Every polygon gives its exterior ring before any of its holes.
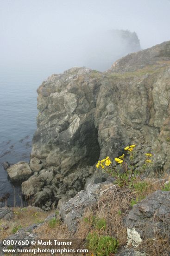
{"type": "Polygon", "coordinates": [[[137,144],[138,164],[148,151],[153,170],[168,170],[170,41],[128,54],[104,73],[74,67],[51,75],[38,88],[38,110],[33,175],[22,183],[36,205],[73,197],[98,159],[113,159],[128,144],[137,144]]]}

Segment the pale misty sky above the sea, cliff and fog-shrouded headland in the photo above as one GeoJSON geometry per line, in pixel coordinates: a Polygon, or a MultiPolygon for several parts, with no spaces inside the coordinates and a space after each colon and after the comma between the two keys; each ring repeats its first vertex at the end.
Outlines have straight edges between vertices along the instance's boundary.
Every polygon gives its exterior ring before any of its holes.
{"type": "Polygon", "coordinates": [[[170,0],[0,0],[0,67],[86,65],[111,29],[135,31],[143,49],[170,40],[170,0]]]}

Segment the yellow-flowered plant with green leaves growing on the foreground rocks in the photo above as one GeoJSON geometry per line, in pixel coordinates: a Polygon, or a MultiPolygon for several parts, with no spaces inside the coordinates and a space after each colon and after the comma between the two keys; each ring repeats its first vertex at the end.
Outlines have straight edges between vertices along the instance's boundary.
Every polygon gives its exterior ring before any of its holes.
{"type": "Polygon", "coordinates": [[[134,163],[135,147],[135,144],[125,147],[124,150],[127,152],[127,154],[115,157],[114,163],[111,161],[109,156],[99,160],[96,167],[101,168],[109,175],[112,175],[115,178],[114,183],[120,187],[132,187],[134,182],[145,172],[146,167],[151,164],[152,156],[151,153],[146,153],[144,164],[141,167],[137,167],[137,165],[134,163]],[[126,161],[126,157],[129,158],[129,161],[126,161]]]}

